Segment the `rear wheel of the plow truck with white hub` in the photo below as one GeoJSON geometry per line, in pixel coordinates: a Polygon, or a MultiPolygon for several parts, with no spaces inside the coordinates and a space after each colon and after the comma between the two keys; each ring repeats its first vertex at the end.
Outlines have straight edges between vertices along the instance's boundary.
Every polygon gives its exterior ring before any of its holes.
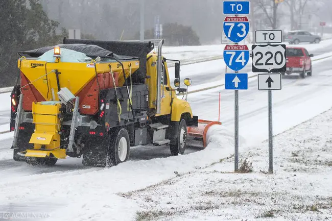
{"type": "Polygon", "coordinates": [[[128,131],[125,128],[116,130],[109,142],[106,166],[113,166],[126,162],[129,158],[129,152],[130,140],[128,131]]]}

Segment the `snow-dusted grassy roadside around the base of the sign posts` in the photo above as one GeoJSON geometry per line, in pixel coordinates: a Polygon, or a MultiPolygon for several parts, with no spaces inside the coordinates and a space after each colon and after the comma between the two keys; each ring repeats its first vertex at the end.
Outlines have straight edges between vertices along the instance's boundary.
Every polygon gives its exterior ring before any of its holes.
{"type": "Polygon", "coordinates": [[[140,209],[136,220],[332,220],[332,110],[268,142],[145,189],[120,193],[140,209]],[[250,165],[251,164],[251,165],[250,165]],[[241,167],[243,166],[243,167],[241,167]]]}

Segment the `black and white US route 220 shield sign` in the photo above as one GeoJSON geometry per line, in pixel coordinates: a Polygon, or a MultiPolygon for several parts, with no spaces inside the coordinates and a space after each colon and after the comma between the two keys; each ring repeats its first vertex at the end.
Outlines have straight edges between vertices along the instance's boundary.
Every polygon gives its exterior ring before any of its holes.
{"type": "Polygon", "coordinates": [[[286,45],[252,45],[252,72],[286,72],[286,45]]]}

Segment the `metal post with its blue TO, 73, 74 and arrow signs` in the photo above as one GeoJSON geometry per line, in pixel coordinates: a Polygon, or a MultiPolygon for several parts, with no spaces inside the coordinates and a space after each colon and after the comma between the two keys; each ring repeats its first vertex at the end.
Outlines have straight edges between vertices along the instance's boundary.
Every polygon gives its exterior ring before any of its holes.
{"type": "MultiPolygon", "coordinates": [[[[225,73],[225,89],[234,90],[234,171],[239,170],[239,90],[248,89],[248,74],[239,73],[249,61],[249,49],[247,45],[239,45],[249,33],[249,20],[247,17],[239,17],[239,14],[249,14],[249,1],[224,1],[223,14],[226,16],[223,23],[225,37],[234,45],[226,45],[224,50],[224,61],[226,70],[229,67],[235,73],[225,73]]],[[[222,41],[222,42],[225,42],[222,41]]],[[[227,72],[227,71],[226,71],[227,72]]]]}

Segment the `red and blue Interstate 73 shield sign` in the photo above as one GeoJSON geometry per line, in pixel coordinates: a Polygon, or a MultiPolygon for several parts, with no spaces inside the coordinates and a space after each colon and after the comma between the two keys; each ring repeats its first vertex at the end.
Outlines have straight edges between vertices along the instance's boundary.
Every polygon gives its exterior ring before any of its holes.
{"type": "Polygon", "coordinates": [[[232,42],[239,43],[249,33],[249,20],[247,17],[226,17],[223,24],[226,37],[232,42]]]}

